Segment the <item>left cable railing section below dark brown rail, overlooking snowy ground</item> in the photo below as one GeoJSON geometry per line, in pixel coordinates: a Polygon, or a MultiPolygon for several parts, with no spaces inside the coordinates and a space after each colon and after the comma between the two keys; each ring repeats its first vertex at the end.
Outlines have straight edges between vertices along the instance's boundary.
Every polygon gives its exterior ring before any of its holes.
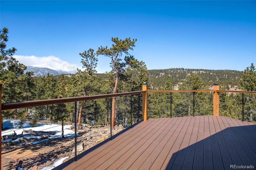
{"type": "MultiPolygon", "coordinates": [[[[77,160],[77,156],[104,140],[112,140],[113,135],[142,121],[142,94],[146,91],[133,91],[106,95],[2,103],[5,119],[19,120],[19,124],[30,121],[30,126],[42,126],[39,131],[24,132],[15,128],[2,131],[2,136],[10,139],[2,142],[2,169],[12,169],[22,161],[22,168],[42,168],[55,159],[73,153],[67,160],[77,160]],[[111,128],[112,99],[115,97],[115,128],[111,128]],[[83,101],[82,126],[77,125],[83,101]],[[26,117],[24,116],[24,113],[26,117]],[[34,121],[36,120],[36,121],[34,121]],[[46,124],[45,124],[46,123],[46,124]],[[94,127],[94,131],[91,131],[94,127]],[[70,129],[72,128],[72,129],[70,129]],[[64,130],[63,130],[64,129],[64,130]],[[96,129],[96,130],[95,130],[96,129]],[[15,132],[14,132],[15,131],[15,132]],[[10,132],[13,132],[10,134],[10,132]],[[65,133],[64,133],[65,132],[65,133]],[[15,133],[15,134],[14,134],[15,133]],[[33,135],[32,135],[32,134],[33,135]],[[100,135],[99,135],[100,134],[100,135]],[[31,136],[28,136],[31,135],[31,136]],[[39,140],[45,138],[43,140],[39,140]],[[52,147],[51,150],[49,146],[52,147]],[[72,146],[72,147],[70,147],[72,146]],[[15,147],[15,150],[13,149],[15,147]],[[80,147],[83,147],[81,150],[80,147]],[[32,150],[32,152],[30,151],[32,150]],[[8,158],[12,157],[8,162],[8,158]],[[7,161],[6,161],[7,160],[7,161]]],[[[3,138],[2,138],[3,139],[3,138]]]]}

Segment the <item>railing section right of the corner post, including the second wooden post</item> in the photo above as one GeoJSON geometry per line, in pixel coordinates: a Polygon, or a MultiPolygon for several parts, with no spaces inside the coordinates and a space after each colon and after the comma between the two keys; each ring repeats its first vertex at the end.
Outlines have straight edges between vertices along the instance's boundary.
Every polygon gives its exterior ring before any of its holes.
{"type": "MultiPolygon", "coordinates": [[[[215,87],[213,90],[148,90],[147,93],[149,93],[149,95],[152,93],[165,93],[169,96],[162,97],[161,100],[161,102],[165,101],[166,105],[168,105],[165,110],[161,111],[162,113],[165,113],[163,114],[164,117],[222,115],[234,119],[240,119],[241,121],[256,122],[256,91],[219,90],[218,85],[215,86],[217,87],[215,87]],[[177,93],[179,95],[175,95],[177,93]],[[184,95],[181,95],[182,93],[187,95],[184,97],[184,95]],[[199,94],[201,94],[201,96],[204,95],[210,97],[211,99],[208,101],[212,101],[212,105],[205,105],[208,106],[208,108],[201,109],[201,112],[198,110],[200,110],[200,107],[203,108],[205,106],[203,103],[200,103],[203,101],[203,99],[202,97],[198,97],[199,94]],[[180,99],[181,97],[183,97],[183,99],[180,99]],[[174,103],[175,98],[176,100],[179,98],[180,101],[174,103]],[[186,113],[181,114],[179,111],[177,111],[179,106],[184,107],[185,109],[183,109],[186,113]],[[190,107],[190,109],[188,109],[188,107],[190,107]],[[196,109],[197,111],[195,111],[196,109]]],[[[150,98],[152,98],[152,96],[148,97],[148,101],[151,100],[150,98]]],[[[158,103],[153,102],[151,105],[158,105],[158,103]]],[[[150,107],[150,104],[148,104],[148,106],[150,107]]],[[[147,115],[149,115],[150,118],[152,118],[152,115],[154,115],[154,118],[160,118],[159,116],[155,116],[156,113],[152,111],[153,107],[154,106],[146,108],[153,112],[153,114],[147,115]]]]}

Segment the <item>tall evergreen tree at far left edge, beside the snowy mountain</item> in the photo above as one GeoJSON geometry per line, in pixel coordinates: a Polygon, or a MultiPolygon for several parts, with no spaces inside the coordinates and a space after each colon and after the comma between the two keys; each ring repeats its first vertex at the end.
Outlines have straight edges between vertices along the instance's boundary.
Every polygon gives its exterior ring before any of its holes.
{"type": "MultiPolygon", "coordinates": [[[[29,100],[32,97],[30,85],[33,85],[32,73],[24,74],[26,66],[19,63],[14,57],[17,50],[12,47],[6,49],[8,42],[8,28],[0,30],[0,83],[2,88],[2,103],[29,100]]],[[[31,86],[32,87],[32,86],[31,86]]],[[[27,111],[27,109],[26,109],[27,111]]],[[[3,111],[5,118],[25,119],[25,109],[3,111]]]]}

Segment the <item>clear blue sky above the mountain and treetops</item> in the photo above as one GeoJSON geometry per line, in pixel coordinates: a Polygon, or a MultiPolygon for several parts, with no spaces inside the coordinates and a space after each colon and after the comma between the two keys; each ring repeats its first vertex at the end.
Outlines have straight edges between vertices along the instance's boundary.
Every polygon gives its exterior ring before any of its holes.
{"type": "MultiPolygon", "coordinates": [[[[256,1],[0,1],[0,28],[16,55],[55,56],[76,67],[82,53],[137,38],[131,55],[148,69],[244,70],[256,65],[256,1]]],[[[36,61],[35,61],[36,62],[36,61]]],[[[98,56],[97,70],[110,71],[98,56]]],[[[26,65],[26,63],[24,63],[26,65]]]]}

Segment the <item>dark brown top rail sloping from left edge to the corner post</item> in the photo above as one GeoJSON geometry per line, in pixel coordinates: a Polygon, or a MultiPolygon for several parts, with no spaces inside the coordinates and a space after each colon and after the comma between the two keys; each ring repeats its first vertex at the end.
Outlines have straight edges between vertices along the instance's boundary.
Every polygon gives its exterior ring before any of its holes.
{"type": "Polygon", "coordinates": [[[92,96],[68,97],[68,98],[59,98],[59,99],[21,101],[21,102],[14,102],[14,103],[2,103],[2,111],[9,110],[9,109],[25,108],[25,107],[35,107],[35,106],[43,106],[43,105],[69,103],[69,102],[75,102],[75,101],[85,101],[85,100],[102,99],[102,98],[108,98],[108,97],[134,95],[139,93],[146,93],[146,91],[132,91],[132,92],[124,92],[124,93],[111,93],[111,94],[104,94],[104,95],[92,95],[92,96]]]}

